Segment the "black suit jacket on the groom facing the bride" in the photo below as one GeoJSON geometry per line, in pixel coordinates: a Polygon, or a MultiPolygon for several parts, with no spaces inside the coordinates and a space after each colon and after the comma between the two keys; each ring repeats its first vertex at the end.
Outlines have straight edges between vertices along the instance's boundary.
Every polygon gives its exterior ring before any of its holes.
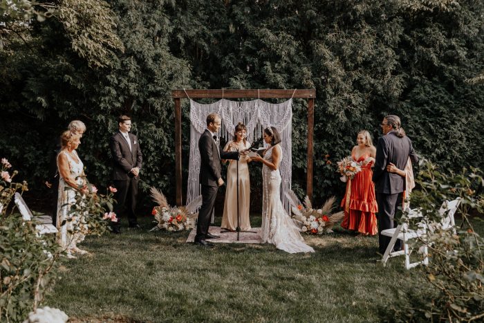
{"type": "Polygon", "coordinates": [[[221,178],[221,158],[223,159],[239,159],[239,151],[223,151],[219,147],[212,133],[205,130],[198,140],[198,149],[200,150],[200,176],[199,181],[201,185],[218,186],[217,180],[221,178]]]}

